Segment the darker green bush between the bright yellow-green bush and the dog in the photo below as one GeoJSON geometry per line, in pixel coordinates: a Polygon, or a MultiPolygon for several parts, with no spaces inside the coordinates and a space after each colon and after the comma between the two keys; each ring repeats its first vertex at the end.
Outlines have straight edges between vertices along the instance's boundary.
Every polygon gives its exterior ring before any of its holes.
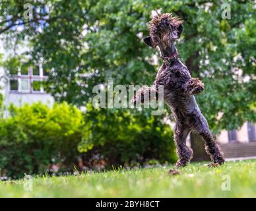
{"type": "Polygon", "coordinates": [[[132,112],[129,109],[107,111],[88,105],[79,151],[93,148],[110,164],[142,163],[152,158],[162,163],[175,162],[170,125],[160,117],[132,112]]]}

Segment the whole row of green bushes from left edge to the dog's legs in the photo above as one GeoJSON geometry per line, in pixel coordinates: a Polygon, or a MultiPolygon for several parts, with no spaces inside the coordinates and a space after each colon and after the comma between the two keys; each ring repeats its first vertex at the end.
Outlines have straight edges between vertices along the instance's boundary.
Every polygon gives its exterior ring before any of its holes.
{"type": "Polygon", "coordinates": [[[73,170],[80,156],[88,167],[99,158],[106,167],[176,160],[170,126],[144,112],[89,104],[83,114],[67,103],[11,106],[9,112],[0,119],[0,175],[43,174],[53,158],[63,170],[73,170]]]}

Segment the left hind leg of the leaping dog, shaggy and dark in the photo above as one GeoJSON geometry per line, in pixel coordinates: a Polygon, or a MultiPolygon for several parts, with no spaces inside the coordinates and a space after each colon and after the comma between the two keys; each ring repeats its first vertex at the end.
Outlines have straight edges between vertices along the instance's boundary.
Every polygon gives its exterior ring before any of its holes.
{"type": "Polygon", "coordinates": [[[176,123],[174,129],[174,141],[177,148],[177,154],[179,156],[176,167],[186,166],[193,156],[193,150],[186,145],[186,139],[189,133],[190,129],[188,127],[176,123]]]}

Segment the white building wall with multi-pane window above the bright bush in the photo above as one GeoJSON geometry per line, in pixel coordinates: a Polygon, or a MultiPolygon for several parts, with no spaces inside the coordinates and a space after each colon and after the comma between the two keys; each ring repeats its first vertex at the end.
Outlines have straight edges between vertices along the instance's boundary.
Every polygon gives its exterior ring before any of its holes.
{"type": "Polygon", "coordinates": [[[9,72],[5,80],[5,106],[22,106],[38,101],[52,106],[53,97],[42,86],[42,82],[48,78],[42,65],[31,66],[23,63],[18,69],[9,72]]]}

